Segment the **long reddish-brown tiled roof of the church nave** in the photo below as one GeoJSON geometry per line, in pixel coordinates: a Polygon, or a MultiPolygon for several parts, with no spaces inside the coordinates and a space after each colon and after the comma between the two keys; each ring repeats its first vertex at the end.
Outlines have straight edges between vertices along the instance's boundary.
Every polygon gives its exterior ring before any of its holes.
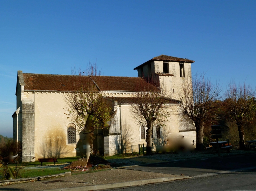
{"type": "MultiPolygon", "coordinates": [[[[23,73],[25,90],[73,91],[76,80],[85,83],[94,83],[88,76],[55,75],[55,74],[30,74],[23,73]]],[[[94,79],[102,91],[136,91],[141,85],[148,83],[139,77],[97,76],[94,79]]]]}

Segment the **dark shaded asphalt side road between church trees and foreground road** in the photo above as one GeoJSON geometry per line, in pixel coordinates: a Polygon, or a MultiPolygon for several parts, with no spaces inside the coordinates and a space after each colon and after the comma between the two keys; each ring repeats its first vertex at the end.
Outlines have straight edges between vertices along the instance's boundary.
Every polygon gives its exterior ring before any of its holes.
{"type": "Polygon", "coordinates": [[[220,156],[209,159],[194,159],[184,161],[166,162],[160,164],[147,164],[126,169],[142,170],[150,172],[160,172],[166,174],[196,176],[219,172],[224,170],[233,170],[239,168],[255,167],[256,153],[235,156],[220,156]]]}

